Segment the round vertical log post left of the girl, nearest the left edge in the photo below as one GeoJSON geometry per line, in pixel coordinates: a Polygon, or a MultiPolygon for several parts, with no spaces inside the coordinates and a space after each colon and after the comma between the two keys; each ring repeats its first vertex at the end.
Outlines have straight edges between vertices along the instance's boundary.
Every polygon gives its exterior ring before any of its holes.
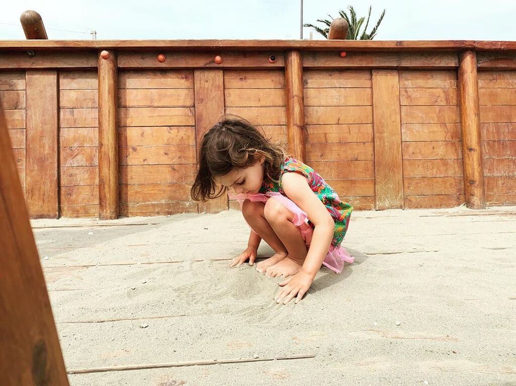
{"type": "Polygon", "coordinates": [[[118,218],[117,56],[99,56],[99,218],[118,218]]]}

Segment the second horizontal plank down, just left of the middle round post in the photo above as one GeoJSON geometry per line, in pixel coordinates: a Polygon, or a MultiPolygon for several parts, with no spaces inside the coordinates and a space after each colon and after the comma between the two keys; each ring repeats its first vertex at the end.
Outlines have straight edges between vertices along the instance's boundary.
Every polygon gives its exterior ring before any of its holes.
{"type": "Polygon", "coordinates": [[[226,89],[224,97],[227,107],[286,106],[285,91],[280,88],[226,89]]]}

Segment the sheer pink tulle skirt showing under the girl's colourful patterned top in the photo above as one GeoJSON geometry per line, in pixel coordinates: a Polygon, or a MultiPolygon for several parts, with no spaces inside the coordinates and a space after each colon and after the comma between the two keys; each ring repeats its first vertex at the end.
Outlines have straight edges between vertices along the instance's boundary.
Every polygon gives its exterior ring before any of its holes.
{"type": "MultiPolygon", "coordinates": [[[[234,195],[228,193],[228,195],[231,200],[237,200],[240,203],[240,207],[243,205],[245,200],[266,202],[271,197],[273,197],[275,200],[278,200],[283,206],[285,206],[289,211],[291,211],[294,214],[294,218],[291,221],[297,227],[297,229],[299,229],[301,237],[303,238],[304,243],[307,245],[307,249],[310,248],[310,243],[312,242],[312,235],[314,233],[314,230],[308,224],[308,215],[299,206],[297,206],[294,203],[294,201],[292,201],[288,197],[283,196],[279,192],[273,191],[267,192],[265,194],[243,193],[234,195]]],[[[252,228],[251,230],[254,232],[252,228]]],[[[344,247],[338,246],[334,248],[333,246],[330,246],[330,249],[326,254],[326,258],[324,259],[324,262],[322,262],[322,264],[324,264],[331,270],[337,272],[337,274],[340,274],[342,272],[342,268],[344,267],[344,262],[352,263],[353,261],[354,258],[348,253],[348,251],[346,251],[346,249],[344,249],[344,247]]]]}

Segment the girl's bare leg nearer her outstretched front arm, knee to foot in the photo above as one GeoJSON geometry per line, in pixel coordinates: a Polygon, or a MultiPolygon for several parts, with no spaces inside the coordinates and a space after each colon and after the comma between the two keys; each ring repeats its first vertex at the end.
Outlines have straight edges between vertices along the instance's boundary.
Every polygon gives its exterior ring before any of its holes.
{"type": "Polygon", "coordinates": [[[294,214],[280,202],[270,198],[265,203],[264,216],[288,251],[287,258],[269,266],[266,273],[273,277],[297,274],[308,251],[299,229],[292,223],[294,214]]]}

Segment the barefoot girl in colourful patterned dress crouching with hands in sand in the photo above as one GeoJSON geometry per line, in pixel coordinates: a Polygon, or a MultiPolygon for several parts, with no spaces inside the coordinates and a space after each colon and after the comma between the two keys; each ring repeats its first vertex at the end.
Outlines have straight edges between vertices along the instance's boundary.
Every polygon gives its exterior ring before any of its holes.
{"type": "Polygon", "coordinates": [[[256,264],[279,285],[277,303],[296,304],[312,284],[321,264],[340,273],[353,258],[341,247],[352,206],[315,172],[270,143],[248,121],[225,117],[203,137],[198,172],[191,188],[196,201],[217,198],[232,188],[251,228],[248,248],[229,266],[256,260],[261,240],[275,254],[256,264]],[[217,185],[220,186],[217,188],[217,185]]]}

